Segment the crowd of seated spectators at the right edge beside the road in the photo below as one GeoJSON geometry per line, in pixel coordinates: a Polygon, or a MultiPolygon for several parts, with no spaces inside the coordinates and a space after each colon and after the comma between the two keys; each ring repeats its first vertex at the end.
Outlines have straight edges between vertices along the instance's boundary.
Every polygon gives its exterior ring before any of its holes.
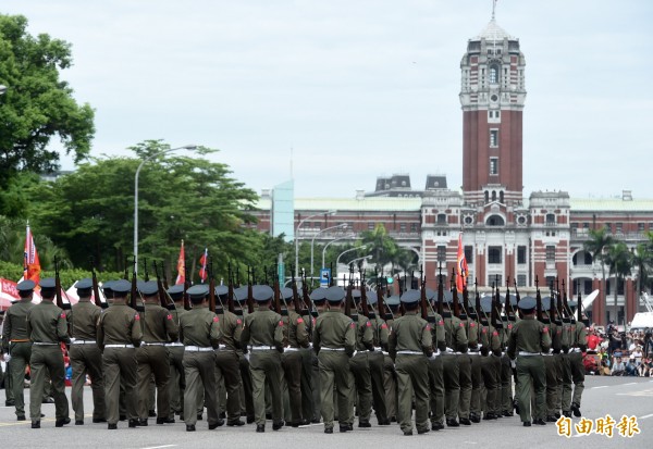
{"type": "Polygon", "coordinates": [[[653,377],[652,330],[620,332],[615,326],[588,330],[587,374],[653,377]]]}

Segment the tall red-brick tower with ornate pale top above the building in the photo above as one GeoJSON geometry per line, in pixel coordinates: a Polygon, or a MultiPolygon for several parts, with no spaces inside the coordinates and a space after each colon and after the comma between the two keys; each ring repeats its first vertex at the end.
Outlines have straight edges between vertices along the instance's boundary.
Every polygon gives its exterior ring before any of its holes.
{"type": "Polygon", "coordinates": [[[519,39],[496,24],[469,39],[460,62],[463,191],[468,204],[522,200],[522,111],[526,61],[519,39]]]}

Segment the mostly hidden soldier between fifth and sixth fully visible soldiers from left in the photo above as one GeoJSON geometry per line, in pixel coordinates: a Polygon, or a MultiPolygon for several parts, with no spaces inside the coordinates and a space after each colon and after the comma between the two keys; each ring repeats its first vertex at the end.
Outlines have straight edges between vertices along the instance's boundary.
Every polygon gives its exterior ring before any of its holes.
{"type": "MultiPolygon", "coordinates": [[[[172,320],[180,325],[180,317],[184,312],[184,285],[173,285],[168,289],[168,296],[174,302],[174,309],[170,311],[172,320]]],[[[168,348],[168,360],[170,361],[170,378],[168,382],[168,390],[170,398],[169,419],[174,420],[174,415],[178,414],[180,420],[184,420],[184,391],[186,389],[186,377],[184,376],[184,344],[178,339],[165,344],[168,348]]]]}

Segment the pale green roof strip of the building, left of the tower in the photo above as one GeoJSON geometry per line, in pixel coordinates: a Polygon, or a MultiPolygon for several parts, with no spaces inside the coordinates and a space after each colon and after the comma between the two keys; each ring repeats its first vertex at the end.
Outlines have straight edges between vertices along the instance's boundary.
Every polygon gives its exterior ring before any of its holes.
{"type": "MultiPolygon", "coordinates": [[[[260,199],[255,208],[270,210],[270,199],[260,199]]],[[[364,197],[356,198],[295,198],[296,211],[397,211],[419,212],[421,198],[364,197]]]]}

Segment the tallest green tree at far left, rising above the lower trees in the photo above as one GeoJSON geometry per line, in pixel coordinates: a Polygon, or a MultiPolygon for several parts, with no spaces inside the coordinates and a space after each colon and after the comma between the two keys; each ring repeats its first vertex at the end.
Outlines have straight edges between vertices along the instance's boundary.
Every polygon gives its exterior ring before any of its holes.
{"type": "MultiPolygon", "coordinates": [[[[51,172],[59,153],[48,149],[58,135],[66,154],[84,160],[95,134],[94,111],[79,105],[60,78],[72,65],[70,43],[27,33],[27,18],[0,14],[0,187],[20,171],[51,172]]],[[[0,210],[0,212],[2,212],[0,210]]]]}

